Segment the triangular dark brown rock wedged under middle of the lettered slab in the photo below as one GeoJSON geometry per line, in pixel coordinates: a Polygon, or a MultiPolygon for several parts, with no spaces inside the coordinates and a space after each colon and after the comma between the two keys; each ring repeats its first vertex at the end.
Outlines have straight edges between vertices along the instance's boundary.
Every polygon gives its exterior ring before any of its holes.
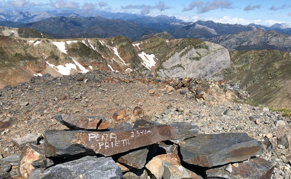
{"type": "Polygon", "coordinates": [[[142,169],[145,167],[148,149],[149,146],[145,146],[126,152],[119,156],[117,161],[137,169],[142,169]]]}

